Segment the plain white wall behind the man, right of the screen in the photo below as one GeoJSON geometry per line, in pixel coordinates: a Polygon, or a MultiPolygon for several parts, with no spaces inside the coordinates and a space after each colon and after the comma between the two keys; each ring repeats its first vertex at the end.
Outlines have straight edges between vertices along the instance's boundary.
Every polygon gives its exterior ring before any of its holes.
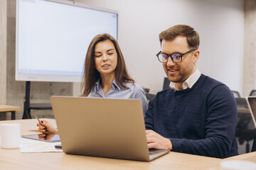
{"type": "MultiPolygon", "coordinates": [[[[159,33],[176,24],[195,28],[200,37],[198,68],[203,74],[242,91],[243,0],[75,0],[119,11],[118,42],[127,69],[151,93],[161,91],[164,77],[156,53],[159,33]]],[[[80,84],[74,84],[74,95],[80,84]]]]}

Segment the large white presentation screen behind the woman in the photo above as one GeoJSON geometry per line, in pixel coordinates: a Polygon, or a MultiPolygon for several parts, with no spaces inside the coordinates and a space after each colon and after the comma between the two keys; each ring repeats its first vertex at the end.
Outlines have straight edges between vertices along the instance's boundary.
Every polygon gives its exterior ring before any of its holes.
{"type": "Polygon", "coordinates": [[[79,82],[92,38],[117,40],[117,11],[65,0],[16,0],[16,80],[79,82]]]}

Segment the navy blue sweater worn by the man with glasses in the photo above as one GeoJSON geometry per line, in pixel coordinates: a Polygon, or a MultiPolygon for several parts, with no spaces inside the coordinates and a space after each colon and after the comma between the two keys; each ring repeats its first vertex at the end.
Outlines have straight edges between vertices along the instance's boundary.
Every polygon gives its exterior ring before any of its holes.
{"type": "Polygon", "coordinates": [[[149,101],[146,129],[171,140],[172,151],[225,158],[238,154],[235,98],[203,74],[191,89],[166,89],[149,101]]]}

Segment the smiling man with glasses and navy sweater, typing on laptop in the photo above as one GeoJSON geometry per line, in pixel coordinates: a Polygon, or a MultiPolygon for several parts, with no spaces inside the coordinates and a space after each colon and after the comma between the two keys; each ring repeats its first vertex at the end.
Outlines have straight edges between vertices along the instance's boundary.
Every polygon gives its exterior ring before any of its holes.
{"type": "Polygon", "coordinates": [[[196,30],[173,26],[160,33],[159,40],[157,57],[171,89],[160,91],[149,102],[148,147],[218,158],[237,155],[235,98],[228,86],[196,68],[200,54],[196,30]]]}

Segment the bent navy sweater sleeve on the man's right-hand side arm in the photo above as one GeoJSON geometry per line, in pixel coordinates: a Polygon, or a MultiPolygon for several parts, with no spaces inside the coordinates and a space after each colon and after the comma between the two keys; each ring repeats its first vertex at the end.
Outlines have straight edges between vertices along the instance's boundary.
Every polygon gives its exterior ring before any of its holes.
{"type": "Polygon", "coordinates": [[[230,157],[237,154],[232,151],[237,123],[235,98],[225,85],[215,86],[206,99],[205,138],[187,140],[169,138],[172,151],[198,154],[208,157],[230,157]]]}

